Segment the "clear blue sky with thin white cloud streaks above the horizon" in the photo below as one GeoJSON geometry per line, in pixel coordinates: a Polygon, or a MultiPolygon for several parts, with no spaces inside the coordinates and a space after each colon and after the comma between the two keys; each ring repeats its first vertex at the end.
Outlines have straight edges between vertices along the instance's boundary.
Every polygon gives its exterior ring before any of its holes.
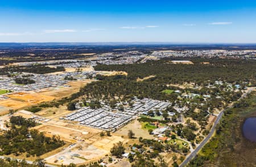
{"type": "Polygon", "coordinates": [[[256,1],[0,1],[0,42],[256,42],[256,1]]]}

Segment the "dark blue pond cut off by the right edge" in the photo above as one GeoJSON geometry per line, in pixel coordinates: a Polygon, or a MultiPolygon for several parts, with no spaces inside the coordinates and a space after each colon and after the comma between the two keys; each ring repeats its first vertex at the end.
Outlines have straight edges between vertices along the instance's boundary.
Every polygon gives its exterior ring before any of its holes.
{"type": "Polygon", "coordinates": [[[256,142],[256,117],[245,120],[245,123],[243,123],[243,136],[252,142],[256,142]]]}

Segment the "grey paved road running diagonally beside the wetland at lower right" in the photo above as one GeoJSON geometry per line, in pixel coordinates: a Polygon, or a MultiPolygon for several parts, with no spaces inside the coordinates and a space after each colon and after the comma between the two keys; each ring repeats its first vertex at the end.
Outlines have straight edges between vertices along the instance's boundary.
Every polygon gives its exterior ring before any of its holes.
{"type": "MultiPolygon", "coordinates": [[[[252,88],[248,89],[247,92],[244,93],[244,94],[241,96],[240,99],[246,97],[246,96],[247,96],[248,94],[250,94],[251,91],[254,90],[254,89],[255,89],[255,87],[252,87],[252,88]]],[[[238,99],[238,100],[240,100],[240,99],[238,99]]],[[[232,107],[233,107],[233,105],[228,106],[228,108],[232,108],[232,107]]],[[[228,109],[228,108],[226,108],[226,109],[228,109]]],[[[183,167],[183,166],[187,165],[188,162],[191,161],[191,160],[197,155],[197,153],[200,151],[200,149],[201,149],[201,148],[205,145],[205,143],[207,143],[208,140],[212,137],[212,135],[213,135],[213,133],[214,133],[214,131],[215,131],[215,128],[216,128],[218,122],[220,122],[220,119],[221,119],[221,117],[222,117],[222,115],[223,115],[223,113],[225,112],[226,109],[222,110],[221,113],[218,114],[217,119],[216,119],[216,121],[214,122],[213,127],[212,127],[212,129],[210,130],[210,132],[209,132],[209,134],[207,135],[207,137],[203,140],[203,142],[201,142],[201,143],[196,147],[196,149],[195,149],[193,152],[191,152],[191,154],[189,154],[189,155],[186,157],[186,159],[180,164],[180,167],[183,167]]]]}

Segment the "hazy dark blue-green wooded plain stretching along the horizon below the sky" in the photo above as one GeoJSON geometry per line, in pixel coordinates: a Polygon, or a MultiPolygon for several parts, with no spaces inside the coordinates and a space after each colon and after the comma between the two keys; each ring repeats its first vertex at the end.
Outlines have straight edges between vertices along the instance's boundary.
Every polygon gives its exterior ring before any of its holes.
{"type": "Polygon", "coordinates": [[[49,61],[61,59],[84,58],[82,53],[122,53],[129,51],[139,51],[144,54],[150,54],[154,50],[255,50],[255,45],[195,45],[195,44],[115,44],[115,45],[98,45],[98,44],[0,44],[0,65],[8,65],[14,62],[32,62],[32,61],[49,61]],[[24,58],[26,57],[26,58],[24,58]]]}

